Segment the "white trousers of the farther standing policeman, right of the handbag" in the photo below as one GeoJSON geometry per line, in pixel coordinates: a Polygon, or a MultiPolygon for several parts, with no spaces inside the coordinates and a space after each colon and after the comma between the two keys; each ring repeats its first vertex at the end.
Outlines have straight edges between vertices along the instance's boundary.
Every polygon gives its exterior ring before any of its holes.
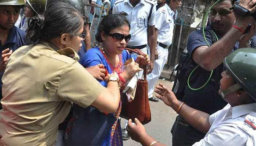
{"type": "Polygon", "coordinates": [[[147,76],[148,82],[148,98],[153,97],[154,85],[160,77],[163,67],[168,59],[168,49],[158,46],[158,59],[155,60],[154,68],[150,74],[147,76]]]}

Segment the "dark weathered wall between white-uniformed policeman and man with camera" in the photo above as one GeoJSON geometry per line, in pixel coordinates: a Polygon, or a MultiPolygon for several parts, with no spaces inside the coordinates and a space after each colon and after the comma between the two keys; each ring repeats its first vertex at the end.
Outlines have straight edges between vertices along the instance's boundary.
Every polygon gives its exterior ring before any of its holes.
{"type": "Polygon", "coordinates": [[[174,65],[177,64],[181,52],[187,45],[189,34],[202,27],[203,16],[208,11],[209,6],[210,0],[182,0],[182,7],[178,9],[178,18],[183,19],[183,25],[181,26],[182,19],[177,18],[173,45],[169,49],[166,69],[173,69],[174,65]],[[195,24],[196,28],[192,28],[191,24],[195,24]]]}

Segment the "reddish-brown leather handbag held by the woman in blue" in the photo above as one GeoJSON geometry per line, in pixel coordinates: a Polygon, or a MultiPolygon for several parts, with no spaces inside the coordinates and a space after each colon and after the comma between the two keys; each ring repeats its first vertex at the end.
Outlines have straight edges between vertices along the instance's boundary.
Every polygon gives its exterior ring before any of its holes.
{"type": "MultiPolygon", "coordinates": [[[[142,51],[139,49],[128,49],[129,52],[134,52],[138,55],[143,55],[142,51]]],[[[134,122],[134,118],[137,118],[142,124],[147,124],[151,121],[151,111],[148,102],[148,91],[147,91],[147,66],[143,65],[143,75],[144,80],[139,79],[137,82],[137,88],[134,100],[128,102],[127,96],[125,93],[122,93],[122,110],[121,117],[125,119],[132,119],[134,122]]]]}

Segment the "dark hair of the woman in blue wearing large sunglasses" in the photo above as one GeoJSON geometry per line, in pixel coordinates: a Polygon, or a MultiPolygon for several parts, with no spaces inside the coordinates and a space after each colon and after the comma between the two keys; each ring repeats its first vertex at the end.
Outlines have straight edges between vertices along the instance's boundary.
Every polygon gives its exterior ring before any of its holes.
{"type": "Polygon", "coordinates": [[[105,16],[101,23],[99,23],[97,34],[95,35],[96,40],[102,43],[101,32],[103,31],[106,35],[109,34],[115,28],[120,28],[122,26],[128,26],[131,28],[129,21],[122,14],[109,14],[105,16]]]}

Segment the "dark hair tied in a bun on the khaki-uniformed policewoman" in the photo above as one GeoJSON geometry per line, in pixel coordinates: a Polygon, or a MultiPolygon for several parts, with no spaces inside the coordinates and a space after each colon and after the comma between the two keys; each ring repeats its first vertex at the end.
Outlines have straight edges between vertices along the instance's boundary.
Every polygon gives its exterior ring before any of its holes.
{"type": "Polygon", "coordinates": [[[83,17],[78,10],[67,3],[50,3],[44,15],[29,19],[27,38],[33,42],[49,41],[67,33],[71,36],[78,33],[83,26],[83,17]]]}

